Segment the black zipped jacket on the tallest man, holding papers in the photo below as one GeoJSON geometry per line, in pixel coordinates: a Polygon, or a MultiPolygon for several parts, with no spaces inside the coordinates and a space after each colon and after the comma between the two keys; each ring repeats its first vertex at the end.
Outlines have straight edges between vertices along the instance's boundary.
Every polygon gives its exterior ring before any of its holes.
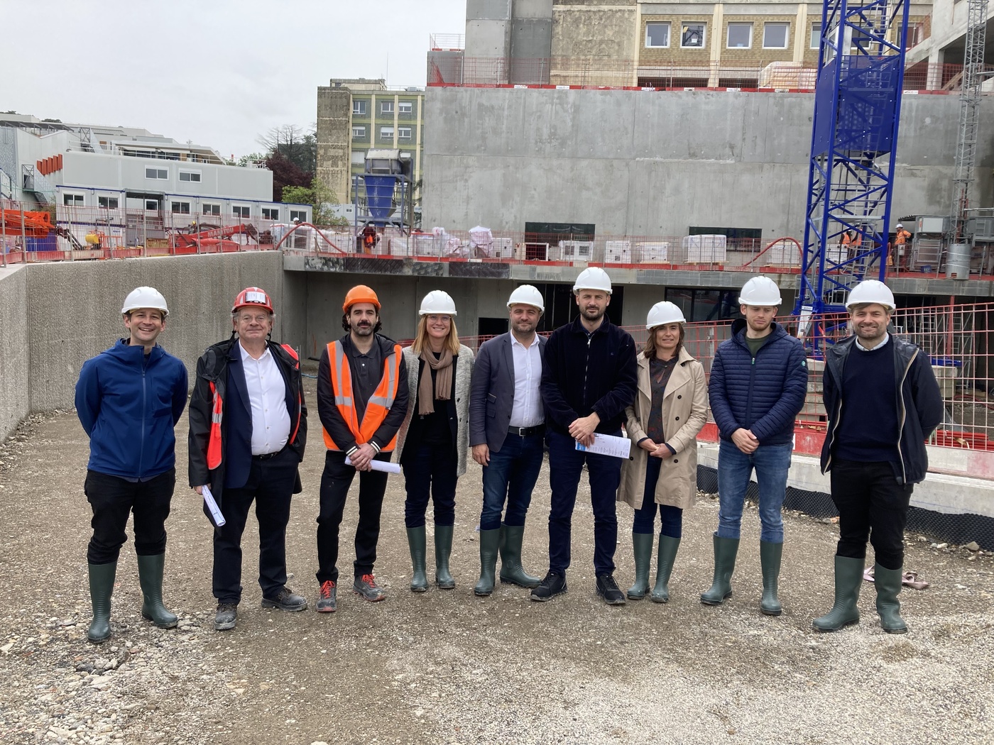
{"type": "Polygon", "coordinates": [[[542,402],[549,429],[569,434],[575,419],[596,411],[596,431],[617,432],[625,407],[635,400],[637,370],[635,340],[606,317],[589,337],[580,316],[556,329],[542,361],[542,402]]]}

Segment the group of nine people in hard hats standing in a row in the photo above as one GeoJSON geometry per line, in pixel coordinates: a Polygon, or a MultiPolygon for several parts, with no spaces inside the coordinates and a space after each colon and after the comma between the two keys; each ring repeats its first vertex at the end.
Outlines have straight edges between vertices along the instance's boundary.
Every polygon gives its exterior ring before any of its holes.
{"type": "MultiPolygon", "coordinates": [[[[759,610],[781,613],[778,577],[781,508],[790,467],[794,418],[808,387],[800,341],[774,317],[781,303],[767,277],[749,279],[743,318],[718,349],[710,381],[685,345],[686,319],[671,302],[646,318],[647,340],[607,318],[611,281],[600,268],[580,272],[579,315],[548,339],[537,334],[545,313],[538,289],[521,285],[508,298],[510,331],[477,355],[459,343],[452,298],[429,292],[418,310],[414,342],[402,348],[381,334],[381,302],[353,287],[342,306],[345,334],[321,353],[317,407],[325,445],[317,517],[316,610],[337,609],[339,533],[358,474],[358,524],[352,590],[379,602],[374,567],[389,473],[398,466],[407,493],[405,525],[411,590],[428,589],[427,507],[432,505],[434,583],[455,587],[449,568],[456,484],[468,457],[482,467],[477,596],[496,582],[549,601],[567,591],[571,532],[583,467],[593,512],[595,590],[621,605],[646,595],[665,603],[682,537],[683,511],[697,493],[697,435],[709,405],[721,435],[720,510],[714,578],[705,605],[732,596],[745,495],[754,472],[761,530],[759,610]],[[627,457],[604,447],[627,438],[627,457]],[[522,545],[532,492],[549,452],[549,568],[529,574],[522,545]],[[616,503],[633,509],[634,583],[614,579],[616,503]],[[656,576],[650,589],[654,534],[656,576]],[[500,559],[500,570],[497,561],[500,559]]],[[[942,416],[927,357],[891,336],[891,291],[868,280],[848,306],[854,336],[829,348],[824,375],[828,433],[823,471],[840,513],[835,604],[814,628],[834,631],[859,620],[857,598],[867,541],[876,552],[877,608],[885,631],[902,633],[903,531],[913,485],[924,478],[924,440],[942,416]],[[852,354],[850,354],[852,353],[852,354]]],[[[87,361],[76,403],[90,439],[85,494],[92,508],[87,549],[93,617],[87,638],[110,637],[110,599],[128,515],[143,595],[142,616],[177,625],[163,604],[166,530],[176,480],[174,428],[187,404],[182,363],[157,344],[168,307],[154,288],[131,292],[121,309],[128,337],[87,361]]],[[[242,536],[255,505],[261,604],[301,611],[308,601],[287,587],[286,526],[307,438],[307,408],[294,350],[271,341],[273,307],[260,288],[239,294],[232,336],[197,363],[189,402],[189,480],[215,525],[215,629],[235,628],[242,599],[242,536]],[[216,507],[215,507],[216,506],[216,507]],[[214,507],[214,509],[212,509],[214,507]]]]}

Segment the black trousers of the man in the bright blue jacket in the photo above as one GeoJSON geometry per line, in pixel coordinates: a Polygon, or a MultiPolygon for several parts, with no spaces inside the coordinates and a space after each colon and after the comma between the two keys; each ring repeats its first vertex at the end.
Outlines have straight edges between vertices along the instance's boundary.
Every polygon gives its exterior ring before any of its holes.
{"type": "Polygon", "coordinates": [[[86,471],[83,493],[93,510],[89,522],[93,535],[86,547],[86,561],[109,564],[117,560],[127,540],[124,527],[131,513],[134,513],[134,552],[139,556],[165,552],[166,518],[175,486],[175,468],[143,482],[86,471]]]}

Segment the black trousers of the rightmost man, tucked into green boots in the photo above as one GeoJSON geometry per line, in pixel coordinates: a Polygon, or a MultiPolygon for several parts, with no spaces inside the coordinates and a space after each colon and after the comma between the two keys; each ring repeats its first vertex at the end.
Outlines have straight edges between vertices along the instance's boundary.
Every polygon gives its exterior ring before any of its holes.
{"type": "Polygon", "coordinates": [[[867,540],[877,563],[900,569],[905,563],[905,525],[911,484],[899,484],[890,463],[832,461],[832,502],[839,510],[836,555],[866,558],[867,540]]]}

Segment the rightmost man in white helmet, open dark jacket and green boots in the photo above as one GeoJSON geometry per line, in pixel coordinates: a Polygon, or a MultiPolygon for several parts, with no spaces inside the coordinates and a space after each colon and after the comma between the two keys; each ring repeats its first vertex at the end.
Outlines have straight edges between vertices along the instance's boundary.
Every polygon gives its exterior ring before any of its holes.
{"type": "Polygon", "coordinates": [[[888,333],[896,305],[887,285],[860,282],[846,308],[854,336],[825,353],[828,435],[821,450],[821,470],[830,472],[839,511],[835,604],[812,625],[837,631],[859,623],[869,539],[880,625],[888,634],[904,634],[898,595],[908,506],[914,485],[925,478],[924,443],[942,421],[942,395],[928,356],[888,333]]]}

